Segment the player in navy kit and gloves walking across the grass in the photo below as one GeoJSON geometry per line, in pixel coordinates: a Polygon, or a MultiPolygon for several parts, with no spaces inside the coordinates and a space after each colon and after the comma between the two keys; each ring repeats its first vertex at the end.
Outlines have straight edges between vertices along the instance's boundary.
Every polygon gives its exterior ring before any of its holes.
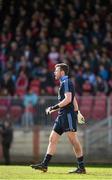
{"type": "Polygon", "coordinates": [[[67,64],[60,63],[55,65],[55,79],[60,80],[58,92],[59,103],[48,107],[46,113],[51,114],[58,110],[58,116],[55,120],[53,130],[51,131],[47,152],[43,161],[40,164],[31,165],[31,167],[43,172],[48,170],[48,164],[55,154],[58,140],[65,132],[73,146],[78,164],[77,169],[73,169],[69,173],[85,174],[83,151],[77,136],[77,120],[79,123],[84,123],[84,117],[78,109],[73,83],[68,78],[68,73],[69,66],[67,64]]]}

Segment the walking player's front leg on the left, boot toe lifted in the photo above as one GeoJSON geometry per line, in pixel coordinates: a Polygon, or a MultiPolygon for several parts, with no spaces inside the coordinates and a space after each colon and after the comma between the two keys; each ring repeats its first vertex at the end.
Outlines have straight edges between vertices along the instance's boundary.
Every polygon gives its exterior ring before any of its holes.
{"type": "Polygon", "coordinates": [[[43,172],[47,171],[48,164],[56,151],[56,146],[57,146],[59,137],[60,137],[60,135],[58,133],[56,133],[54,130],[52,130],[50,137],[49,137],[47,153],[46,153],[43,161],[40,164],[31,165],[32,168],[42,170],[43,172]]]}

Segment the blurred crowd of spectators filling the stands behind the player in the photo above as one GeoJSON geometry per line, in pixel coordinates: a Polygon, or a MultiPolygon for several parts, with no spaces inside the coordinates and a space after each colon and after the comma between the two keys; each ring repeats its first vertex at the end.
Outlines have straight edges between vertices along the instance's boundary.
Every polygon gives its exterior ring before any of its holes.
{"type": "Polygon", "coordinates": [[[1,0],[0,96],[55,95],[59,62],[78,95],[112,93],[112,0],[1,0]]]}

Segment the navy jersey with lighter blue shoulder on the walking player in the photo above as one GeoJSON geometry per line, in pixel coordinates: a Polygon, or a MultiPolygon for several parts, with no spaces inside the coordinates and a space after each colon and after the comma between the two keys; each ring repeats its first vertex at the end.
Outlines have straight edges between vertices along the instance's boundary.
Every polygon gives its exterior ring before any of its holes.
{"type": "Polygon", "coordinates": [[[59,100],[59,102],[62,101],[65,98],[65,93],[66,92],[71,92],[72,93],[72,101],[68,105],[64,106],[63,108],[60,108],[59,113],[62,113],[62,112],[65,112],[65,111],[70,112],[70,111],[74,110],[73,99],[74,99],[74,96],[75,96],[75,89],[74,89],[72,81],[68,78],[68,76],[63,76],[61,78],[60,88],[59,88],[59,91],[58,91],[58,100],[59,100]]]}

